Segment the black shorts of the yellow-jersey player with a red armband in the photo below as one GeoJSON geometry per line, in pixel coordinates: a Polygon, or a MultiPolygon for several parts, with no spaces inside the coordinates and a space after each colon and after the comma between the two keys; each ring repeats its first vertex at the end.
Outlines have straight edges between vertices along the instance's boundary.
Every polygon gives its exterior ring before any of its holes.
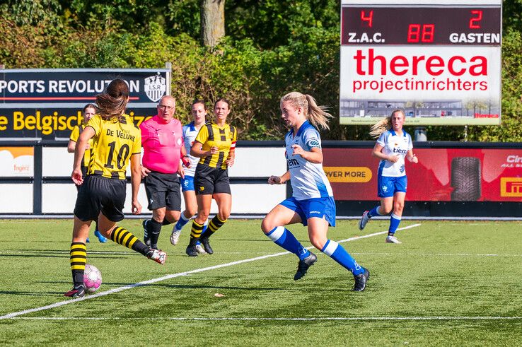
{"type": "Polygon", "coordinates": [[[198,195],[214,193],[231,194],[228,169],[197,164],[196,174],[194,175],[194,188],[198,195]]]}

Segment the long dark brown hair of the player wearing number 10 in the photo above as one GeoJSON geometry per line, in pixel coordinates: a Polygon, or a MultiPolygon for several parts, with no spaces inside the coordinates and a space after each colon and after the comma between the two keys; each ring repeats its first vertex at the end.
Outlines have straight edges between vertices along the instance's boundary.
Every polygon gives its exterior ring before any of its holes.
{"type": "Polygon", "coordinates": [[[129,86],[118,78],[109,83],[105,93],[96,95],[98,111],[103,119],[120,119],[127,108],[129,86]]]}

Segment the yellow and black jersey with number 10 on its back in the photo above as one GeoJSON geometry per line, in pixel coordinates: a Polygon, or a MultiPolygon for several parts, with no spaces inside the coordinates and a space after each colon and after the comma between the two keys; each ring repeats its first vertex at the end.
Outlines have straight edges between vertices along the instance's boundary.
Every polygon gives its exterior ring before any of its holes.
{"type": "Polygon", "coordinates": [[[87,175],[125,180],[125,171],[132,154],[141,154],[141,131],[132,119],[123,114],[120,120],[104,120],[95,114],[87,127],[95,131],[87,175]]]}

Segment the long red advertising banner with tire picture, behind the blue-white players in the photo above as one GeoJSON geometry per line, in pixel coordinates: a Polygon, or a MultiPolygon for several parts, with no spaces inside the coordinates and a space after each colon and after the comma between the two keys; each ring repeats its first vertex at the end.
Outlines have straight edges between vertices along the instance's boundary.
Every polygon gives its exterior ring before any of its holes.
{"type": "MultiPolygon", "coordinates": [[[[371,148],[323,148],[336,200],[378,200],[371,148]]],[[[521,149],[414,148],[407,201],[522,201],[521,149]]]]}

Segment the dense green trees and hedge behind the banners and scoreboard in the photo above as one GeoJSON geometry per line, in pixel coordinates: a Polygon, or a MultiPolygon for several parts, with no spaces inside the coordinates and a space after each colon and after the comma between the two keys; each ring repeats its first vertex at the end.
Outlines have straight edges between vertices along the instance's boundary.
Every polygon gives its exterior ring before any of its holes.
{"type": "MultiPolygon", "coordinates": [[[[170,61],[178,117],[194,98],[231,100],[240,139],[281,139],[279,98],[313,95],[335,116],[323,139],[369,140],[338,124],[340,1],[226,0],[227,37],[199,45],[199,0],[3,1],[0,64],[8,68],[157,68],[170,61]]],[[[433,141],[520,141],[522,0],[504,1],[502,125],[427,127],[433,141]]],[[[407,129],[413,131],[414,129],[407,129]]]]}

